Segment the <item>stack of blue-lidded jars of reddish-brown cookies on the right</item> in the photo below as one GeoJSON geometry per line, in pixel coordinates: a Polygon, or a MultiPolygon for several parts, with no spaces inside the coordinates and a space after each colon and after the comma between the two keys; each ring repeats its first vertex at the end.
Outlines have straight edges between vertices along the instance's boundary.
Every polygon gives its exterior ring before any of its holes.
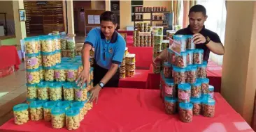
{"type": "Polygon", "coordinates": [[[206,78],[204,51],[195,49],[192,35],[173,35],[181,52],[168,51],[168,61],[161,72],[160,97],[166,113],[178,113],[181,122],[192,122],[193,115],[214,117],[214,87],[206,78]]]}

